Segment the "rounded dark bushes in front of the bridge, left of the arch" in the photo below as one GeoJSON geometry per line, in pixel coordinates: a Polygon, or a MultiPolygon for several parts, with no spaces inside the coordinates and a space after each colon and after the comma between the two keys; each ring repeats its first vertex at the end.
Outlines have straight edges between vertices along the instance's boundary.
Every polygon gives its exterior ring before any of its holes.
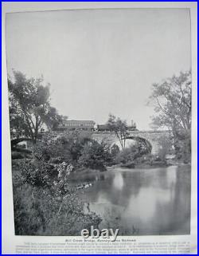
{"type": "Polygon", "coordinates": [[[90,133],[72,131],[57,137],[49,132],[39,141],[33,150],[37,160],[45,160],[51,164],[61,161],[73,167],[105,169],[104,165],[111,162],[110,145],[104,140],[98,143],[91,139],[90,133]]]}

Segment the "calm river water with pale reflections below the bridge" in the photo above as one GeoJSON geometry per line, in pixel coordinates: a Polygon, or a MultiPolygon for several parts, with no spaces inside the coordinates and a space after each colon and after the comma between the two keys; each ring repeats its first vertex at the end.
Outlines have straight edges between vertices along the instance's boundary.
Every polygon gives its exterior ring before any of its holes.
{"type": "Polygon", "coordinates": [[[190,167],[123,169],[89,173],[80,193],[85,212],[96,212],[102,228],[122,235],[189,234],[190,167]]]}

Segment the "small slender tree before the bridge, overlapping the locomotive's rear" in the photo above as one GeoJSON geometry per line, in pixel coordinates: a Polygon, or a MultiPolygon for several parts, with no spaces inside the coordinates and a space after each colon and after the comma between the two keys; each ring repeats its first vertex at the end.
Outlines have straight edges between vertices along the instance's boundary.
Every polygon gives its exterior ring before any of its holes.
{"type": "Polygon", "coordinates": [[[126,146],[127,136],[129,136],[126,120],[121,120],[119,117],[116,118],[110,114],[107,120],[107,127],[112,132],[115,132],[115,136],[117,136],[119,144],[124,149],[126,146]]]}

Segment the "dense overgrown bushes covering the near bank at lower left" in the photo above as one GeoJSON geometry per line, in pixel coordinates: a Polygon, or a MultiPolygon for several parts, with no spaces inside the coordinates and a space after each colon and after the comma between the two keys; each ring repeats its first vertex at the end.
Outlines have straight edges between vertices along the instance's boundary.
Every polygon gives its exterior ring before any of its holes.
{"type": "Polygon", "coordinates": [[[63,138],[46,136],[33,160],[13,162],[15,234],[80,235],[99,225],[95,213],[84,214],[76,187],[68,183],[72,154],[64,146],[63,138]]]}

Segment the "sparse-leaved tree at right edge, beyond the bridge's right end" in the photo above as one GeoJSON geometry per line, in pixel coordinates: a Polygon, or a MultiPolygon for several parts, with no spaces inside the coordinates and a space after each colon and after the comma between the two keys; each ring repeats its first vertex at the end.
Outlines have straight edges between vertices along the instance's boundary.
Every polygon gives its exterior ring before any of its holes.
{"type": "Polygon", "coordinates": [[[186,153],[191,152],[191,72],[180,73],[160,84],[152,85],[150,102],[154,103],[156,116],[152,117],[155,128],[169,128],[174,135],[175,147],[179,141],[186,153]]]}

